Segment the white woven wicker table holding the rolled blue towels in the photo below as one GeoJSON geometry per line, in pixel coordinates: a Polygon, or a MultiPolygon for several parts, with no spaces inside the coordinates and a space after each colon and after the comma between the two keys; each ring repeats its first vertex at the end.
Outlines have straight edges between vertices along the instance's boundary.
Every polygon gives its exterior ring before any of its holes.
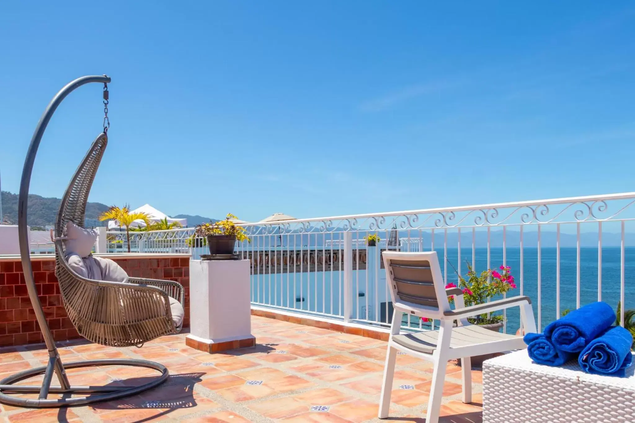
{"type": "Polygon", "coordinates": [[[483,423],[635,422],[635,375],[590,375],[577,360],[533,363],[527,350],[483,363],[483,423]]]}

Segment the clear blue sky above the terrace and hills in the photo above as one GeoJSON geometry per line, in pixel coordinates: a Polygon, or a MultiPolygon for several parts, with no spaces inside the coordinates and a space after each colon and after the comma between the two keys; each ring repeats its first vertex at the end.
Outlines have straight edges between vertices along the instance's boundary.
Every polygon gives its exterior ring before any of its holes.
{"type": "MultiPolygon", "coordinates": [[[[91,200],[254,221],[634,191],[627,1],[0,4],[0,172],[50,98],[109,74],[91,200]]],[[[65,100],[30,192],[102,123],[65,100]]]]}

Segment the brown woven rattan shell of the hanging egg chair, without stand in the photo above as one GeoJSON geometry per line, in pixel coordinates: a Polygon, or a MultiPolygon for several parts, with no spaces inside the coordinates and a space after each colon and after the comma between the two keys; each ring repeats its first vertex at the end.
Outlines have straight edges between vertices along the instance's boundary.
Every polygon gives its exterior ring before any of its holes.
{"type": "Polygon", "coordinates": [[[128,347],[180,331],[174,327],[168,296],[184,306],[184,289],[171,280],[89,280],[65,260],[64,228],[69,222],[84,226],[86,200],[106,144],[105,134],[97,137],[62,197],[55,221],[55,275],[64,308],[80,335],[97,344],[128,347]]]}

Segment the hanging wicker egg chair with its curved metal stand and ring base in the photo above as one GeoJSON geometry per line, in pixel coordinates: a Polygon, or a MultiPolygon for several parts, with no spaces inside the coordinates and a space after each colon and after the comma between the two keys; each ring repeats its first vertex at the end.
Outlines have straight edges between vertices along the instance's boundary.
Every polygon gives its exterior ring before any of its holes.
{"type": "MultiPolygon", "coordinates": [[[[169,377],[168,369],[159,363],[146,360],[86,360],[63,364],[60,360],[51,330],[46,323],[42,305],[37,297],[33,271],[30,262],[29,229],[27,228],[27,204],[29,184],[37,148],[44,130],[62,100],[74,89],[90,82],[105,84],[110,82],[106,75],[85,76],[70,82],[51,100],[39,120],[25,159],[20,196],[18,199],[18,234],[20,238],[20,256],[29,298],[36,314],[37,323],[42,331],[49,361],[44,367],[37,367],[13,374],[0,381],[0,403],[18,407],[65,407],[85,405],[100,401],[116,400],[138,394],[159,386],[169,377]],[[140,386],[71,386],[65,368],[124,365],[146,367],[160,374],[150,382],[140,386]],[[53,373],[57,375],[60,386],[51,386],[53,373]],[[16,382],[44,374],[41,386],[14,385],[16,382]],[[20,398],[14,394],[37,393],[38,398],[20,398]],[[50,393],[62,394],[61,398],[48,398],[50,393]],[[72,395],[87,394],[81,397],[72,395]]],[[[107,96],[104,97],[107,99],[107,96]]],[[[106,102],[105,102],[106,103],[106,102]]],[[[93,142],[86,157],[81,162],[67,188],[57,221],[55,222],[55,273],[60,284],[60,293],[70,321],[77,332],[86,339],[98,344],[114,347],[138,346],[157,337],[180,332],[172,322],[168,296],[177,298],[184,304],[184,289],[180,283],[166,280],[129,278],[130,283],[102,282],[82,278],[70,270],[64,259],[63,236],[67,222],[83,226],[84,212],[88,194],[95,173],[107,144],[107,128],[93,142]]]]}

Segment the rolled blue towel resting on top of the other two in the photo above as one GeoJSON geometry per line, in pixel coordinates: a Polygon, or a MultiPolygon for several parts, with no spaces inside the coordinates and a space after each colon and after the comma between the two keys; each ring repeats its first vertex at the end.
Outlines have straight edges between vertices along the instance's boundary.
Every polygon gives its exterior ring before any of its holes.
{"type": "Polygon", "coordinates": [[[598,301],[549,323],[544,334],[559,350],[577,353],[613,325],[616,318],[611,306],[598,301]]]}

